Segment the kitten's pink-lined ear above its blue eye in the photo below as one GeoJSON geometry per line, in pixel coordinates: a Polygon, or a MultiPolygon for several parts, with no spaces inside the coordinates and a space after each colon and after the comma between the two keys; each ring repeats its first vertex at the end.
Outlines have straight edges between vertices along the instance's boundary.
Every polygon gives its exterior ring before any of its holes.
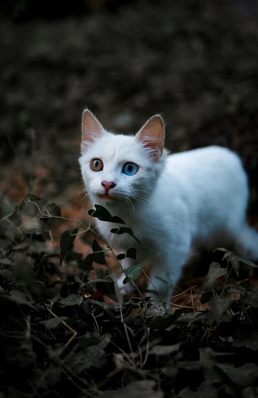
{"type": "Polygon", "coordinates": [[[150,150],[154,160],[158,160],[163,153],[165,126],[160,115],[151,117],[136,134],[136,139],[150,150]]]}

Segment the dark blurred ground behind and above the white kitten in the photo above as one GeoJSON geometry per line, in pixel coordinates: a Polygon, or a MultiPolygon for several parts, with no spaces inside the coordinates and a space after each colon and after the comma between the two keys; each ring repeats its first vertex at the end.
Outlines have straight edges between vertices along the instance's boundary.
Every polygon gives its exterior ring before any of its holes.
{"type": "Polygon", "coordinates": [[[257,2],[171,0],[0,5],[1,189],[67,205],[80,123],[136,132],[153,114],[167,147],[221,144],[242,157],[257,211],[257,2]]]}

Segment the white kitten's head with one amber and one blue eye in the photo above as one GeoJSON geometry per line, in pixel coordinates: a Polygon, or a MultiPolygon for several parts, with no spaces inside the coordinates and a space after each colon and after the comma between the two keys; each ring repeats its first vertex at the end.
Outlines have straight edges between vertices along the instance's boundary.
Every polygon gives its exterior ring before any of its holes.
{"type": "Polygon", "coordinates": [[[102,206],[129,200],[143,203],[161,174],[166,150],[164,122],[149,119],[135,135],[107,132],[86,109],[82,116],[82,177],[91,200],[102,206]]]}

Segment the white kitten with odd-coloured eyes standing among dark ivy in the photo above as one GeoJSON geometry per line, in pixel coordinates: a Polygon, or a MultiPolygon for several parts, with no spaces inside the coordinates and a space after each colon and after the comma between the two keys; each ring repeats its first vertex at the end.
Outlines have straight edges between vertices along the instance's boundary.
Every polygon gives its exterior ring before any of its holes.
{"type": "MultiPolygon", "coordinates": [[[[140,240],[138,245],[128,234],[116,236],[120,253],[137,249],[137,260],[126,259],[126,267],[150,259],[150,279],[165,298],[171,291],[156,276],[176,284],[195,245],[233,246],[257,260],[258,234],[246,222],[248,184],[240,158],[219,146],[169,155],[164,138],[159,115],[125,136],[107,132],[86,109],[79,162],[91,203],[120,217],[140,240]]],[[[109,244],[110,230],[119,226],[97,220],[109,244]]]]}

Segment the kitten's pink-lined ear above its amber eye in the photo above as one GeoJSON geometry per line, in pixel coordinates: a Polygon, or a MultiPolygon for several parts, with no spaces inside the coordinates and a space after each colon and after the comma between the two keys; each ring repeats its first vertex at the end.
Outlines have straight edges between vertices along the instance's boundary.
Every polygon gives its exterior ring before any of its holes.
{"type": "Polygon", "coordinates": [[[81,152],[105,132],[98,119],[88,109],[82,114],[81,152]]]}

